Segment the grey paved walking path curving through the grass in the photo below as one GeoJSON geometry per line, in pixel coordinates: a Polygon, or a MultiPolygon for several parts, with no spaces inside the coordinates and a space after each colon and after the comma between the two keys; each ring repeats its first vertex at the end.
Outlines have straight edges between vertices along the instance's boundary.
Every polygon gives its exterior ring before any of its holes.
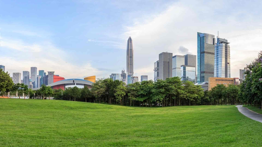
{"type": "Polygon", "coordinates": [[[262,114],[256,113],[254,111],[251,111],[249,109],[247,109],[246,107],[242,107],[243,105],[237,105],[236,107],[238,107],[238,111],[242,114],[244,114],[245,116],[255,120],[255,121],[259,121],[262,123],[262,114]]]}

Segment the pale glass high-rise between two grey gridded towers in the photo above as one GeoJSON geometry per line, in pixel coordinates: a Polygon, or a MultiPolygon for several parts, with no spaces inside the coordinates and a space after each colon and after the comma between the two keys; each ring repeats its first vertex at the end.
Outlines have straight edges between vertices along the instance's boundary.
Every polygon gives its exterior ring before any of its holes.
{"type": "Polygon", "coordinates": [[[172,77],[181,77],[181,65],[185,65],[185,56],[174,55],[172,57],[172,77]]]}

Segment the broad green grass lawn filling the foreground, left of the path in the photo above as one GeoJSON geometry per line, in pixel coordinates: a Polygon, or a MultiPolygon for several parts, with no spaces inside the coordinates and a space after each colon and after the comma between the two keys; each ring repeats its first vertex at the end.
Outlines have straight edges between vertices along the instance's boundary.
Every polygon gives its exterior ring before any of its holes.
{"type": "Polygon", "coordinates": [[[0,98],[0,146],[261,146],[234,105],[126,107],[0,98]]]}

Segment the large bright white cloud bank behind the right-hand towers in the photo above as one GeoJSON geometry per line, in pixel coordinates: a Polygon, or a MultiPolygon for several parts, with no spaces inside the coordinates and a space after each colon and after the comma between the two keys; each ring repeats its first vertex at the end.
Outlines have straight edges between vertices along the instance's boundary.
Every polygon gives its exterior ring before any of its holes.
{"type": "Polygon", "coordinates": [[[243,14],[247,10],[226,9],[228,7],[235,5],[220,1],[216,7],[213,2],[181,1],[158,15],[133,18],[135,23],[124,26],[127,31],[123,36],[131,36],[133,40],[134,72],[139,76],[148,74],[148,79],[153,79],[153,66],[159,53],[183,55],[180,46],[184,46],[187,53],[197,55],[197,32],[216,36],[219,31],[219,36],[231,43],[231,77],[239,77],[239,69],[261,50],[261,20],[252,20],[252,14],[243,14]],[[201,7],[197,3],[201,3],[201,7]],[[222,12],[220,6],[225,7],[222,12]]]}

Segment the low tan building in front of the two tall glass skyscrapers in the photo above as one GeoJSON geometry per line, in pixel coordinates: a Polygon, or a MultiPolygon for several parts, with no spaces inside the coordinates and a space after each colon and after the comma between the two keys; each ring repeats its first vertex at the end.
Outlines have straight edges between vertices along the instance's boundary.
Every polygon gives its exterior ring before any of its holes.
{"type": "Polygon", "coordinates": [[[211,90],[213,87],[217,86],[217,84],[223,84],[227,87],[229,84],[234,84],[234,78],[208,78],[208,90],[211,90]]]}

